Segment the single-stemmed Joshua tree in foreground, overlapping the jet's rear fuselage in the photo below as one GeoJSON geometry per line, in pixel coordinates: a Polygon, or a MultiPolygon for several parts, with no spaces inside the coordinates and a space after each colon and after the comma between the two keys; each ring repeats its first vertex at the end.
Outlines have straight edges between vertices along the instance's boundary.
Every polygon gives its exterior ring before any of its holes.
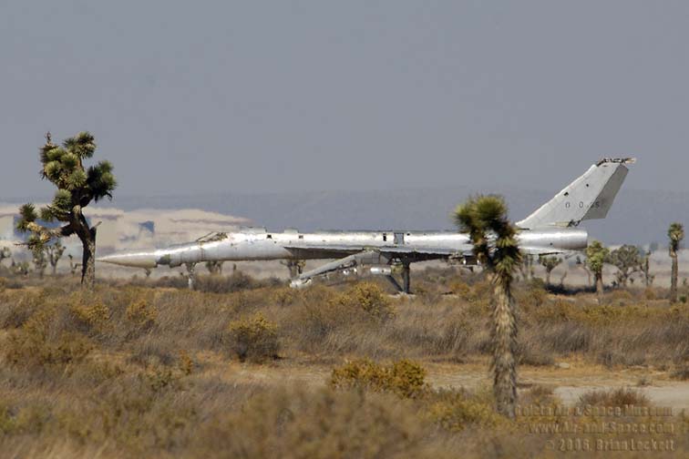
{"type": "Polygon", "coordinates": [[[515,416],[517,403],[517,321],[512,297],[514,272],[521,263],[517,230],[507,218],[505,201],[498,196],[477,196],[455,210],[455,221],[468,232],[478,261],[490,272],[495,289],[491,342],[493,393],[498,412],[515,416]]]}

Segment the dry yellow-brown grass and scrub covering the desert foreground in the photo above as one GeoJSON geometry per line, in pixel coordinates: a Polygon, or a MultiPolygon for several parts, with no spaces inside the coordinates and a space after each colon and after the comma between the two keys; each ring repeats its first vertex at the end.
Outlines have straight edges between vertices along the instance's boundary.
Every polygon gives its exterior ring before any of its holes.
{"type": "MultiPolygon", "coordinates": [[[[557,436],[530,423],[567,416],[493,411],[479,277],[429,272],[416,297],[371,283],[212,282],[83,293],[48,279],[0,292],[0,455],[560,456],[547,444],[557,436]]],[[[653,403],[653,390],[684,387],[672,378],[689,360],[689,310],[663,294],[612,292],[601,307],[587,292],[520,284],[519,403],[642,379],[653,403]]]]}

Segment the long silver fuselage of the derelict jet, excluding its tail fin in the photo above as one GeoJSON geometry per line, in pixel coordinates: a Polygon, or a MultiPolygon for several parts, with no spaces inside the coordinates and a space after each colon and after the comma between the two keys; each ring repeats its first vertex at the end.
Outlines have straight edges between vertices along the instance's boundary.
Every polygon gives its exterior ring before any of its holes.
{"type": "MultiPolygon", "coordinates": [[[[575,228],[520,230],[519,247],[527,254],[584,250],[586,230],[575,228]]],[[[159,250],[117,253],[98,260],[138,268],[176,267],[204,261],[324,260],[362,250],[381,250],[400,256],[423,254],[425,260],[467,256],[467,234],[451,231],[297,231],[240,230],[220,240],[200,240],[159,250]]]]}

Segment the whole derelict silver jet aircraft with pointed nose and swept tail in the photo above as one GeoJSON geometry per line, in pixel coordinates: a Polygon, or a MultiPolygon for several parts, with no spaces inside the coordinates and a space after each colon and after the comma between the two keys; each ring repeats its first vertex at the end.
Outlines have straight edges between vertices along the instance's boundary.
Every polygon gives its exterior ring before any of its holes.
{"type": "MultiPolygon", "coordinates": [[[[567,254],[584,250],[588,233],[581,221],[604,219],[627,176],[633,158],[604,158],[571,182],[529,217],[516,223],[519,248],[525,254],[567,254]]],[[[316,276],[343,270],[384,275],[400,291],[409,292],[409,265],[423,260],[458,260],[476,264],[467,234],[452,231],[318,231],[270,232],[247,229],[215,233],[167,249],[115,253],[98,260],[152,269],[221,260],[331,260],[306,272],[294,272],[291,286],[303,287],[316,276]],[[401,274],[400,286],[394,277],[401,274]]],[[[296,264],[293,264],[296,266],[296,264]]]]}

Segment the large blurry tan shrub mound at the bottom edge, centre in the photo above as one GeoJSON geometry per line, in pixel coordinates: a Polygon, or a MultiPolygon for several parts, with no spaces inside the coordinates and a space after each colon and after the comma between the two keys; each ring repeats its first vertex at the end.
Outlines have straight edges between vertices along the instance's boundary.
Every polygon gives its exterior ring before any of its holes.
{"type": "Polygon", "coordinates": [[[279,389],[222,413],[196,436],[201,457],[453,457],[433,425],[394,396],[279,389]]]}

